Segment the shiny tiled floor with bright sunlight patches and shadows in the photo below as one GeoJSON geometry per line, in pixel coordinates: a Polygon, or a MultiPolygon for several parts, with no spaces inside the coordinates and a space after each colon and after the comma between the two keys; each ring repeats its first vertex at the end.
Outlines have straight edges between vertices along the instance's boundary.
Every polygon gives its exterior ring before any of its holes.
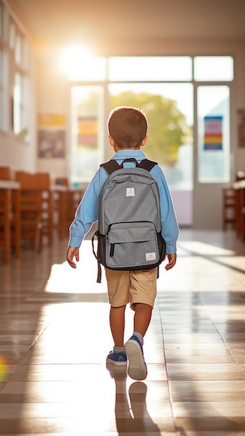
{"type": "MultiPolygon", "coordinates": [[[[144,355],[148,376],[110,374],[105,279],[85,241],[0,263],[0,435],[244,436],[245,245],[181,231],[161,268],[144,355]]],[[[127,311],[126,338],[132,313],[127,311]]]]}

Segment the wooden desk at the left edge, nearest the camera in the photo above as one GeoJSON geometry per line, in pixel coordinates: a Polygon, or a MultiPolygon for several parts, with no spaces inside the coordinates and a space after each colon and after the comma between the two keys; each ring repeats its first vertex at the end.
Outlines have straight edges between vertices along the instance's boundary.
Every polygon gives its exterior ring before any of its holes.
{"type": "Polygon", "coordinates": [[[0,180],[0,215],[3,216],[3,263],[8,263],[11,245],[11,222],[15,228],[15,256],[20,256],[20,183],[0,180]]]}

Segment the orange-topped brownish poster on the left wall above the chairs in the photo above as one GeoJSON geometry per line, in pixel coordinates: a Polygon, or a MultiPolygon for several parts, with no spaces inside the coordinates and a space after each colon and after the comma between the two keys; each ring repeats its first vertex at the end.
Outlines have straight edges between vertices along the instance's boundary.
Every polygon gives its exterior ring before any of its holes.
{"type": "Polygon", "coordinates": [[[65,157],[66,115],[38,115],[38,157],[65,157]]]}

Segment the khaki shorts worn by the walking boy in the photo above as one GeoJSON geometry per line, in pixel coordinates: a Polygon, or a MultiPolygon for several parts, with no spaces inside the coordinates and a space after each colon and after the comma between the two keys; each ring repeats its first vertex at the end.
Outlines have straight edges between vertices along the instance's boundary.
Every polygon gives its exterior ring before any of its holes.
{"type": "Polygon", "coordinates": [[[135,303],[144,303],[153,309],[157,275],[157,267],[140,271],[114,271],[105,268],[110,305],[119,307],[130,303],[131,309],[135,310],[135,303]]]}

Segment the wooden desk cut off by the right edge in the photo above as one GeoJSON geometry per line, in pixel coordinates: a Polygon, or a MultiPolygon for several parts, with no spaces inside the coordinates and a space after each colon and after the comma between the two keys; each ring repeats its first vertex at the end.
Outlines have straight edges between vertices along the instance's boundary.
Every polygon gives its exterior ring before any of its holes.
{"type": "Polygon", "coordinates": [[[232,187],[235,189],[237,235],[242,234],[245,242],[245,180],[234,182],[232,187]]]}

